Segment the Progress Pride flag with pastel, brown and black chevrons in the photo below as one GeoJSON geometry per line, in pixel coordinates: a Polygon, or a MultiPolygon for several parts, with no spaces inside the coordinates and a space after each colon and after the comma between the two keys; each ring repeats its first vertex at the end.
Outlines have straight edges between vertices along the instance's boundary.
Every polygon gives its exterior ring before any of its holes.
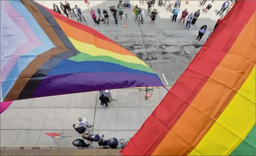
{"type": "Polygon", "coordinates": [[[134,54],[34,1],[0,1],[1,102],[164,86],[134,54]]]}

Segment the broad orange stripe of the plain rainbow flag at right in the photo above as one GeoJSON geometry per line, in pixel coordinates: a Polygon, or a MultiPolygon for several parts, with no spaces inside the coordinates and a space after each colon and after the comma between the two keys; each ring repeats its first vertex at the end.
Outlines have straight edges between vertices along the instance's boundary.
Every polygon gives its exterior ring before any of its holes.
{"type": "Polygon", "coordinates": [[[254,66],[255,12],[228,54],[152,155],[188,155],[222,114],[254,66]]]}

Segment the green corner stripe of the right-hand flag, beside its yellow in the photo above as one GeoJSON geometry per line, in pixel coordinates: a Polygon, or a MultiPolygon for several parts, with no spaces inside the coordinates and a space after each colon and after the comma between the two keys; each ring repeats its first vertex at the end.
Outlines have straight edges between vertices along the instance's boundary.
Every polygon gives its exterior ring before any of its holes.
{"type": "Polygon", "coordinates": [[[230,156],[255,156],[255,125],[230,156]]]}

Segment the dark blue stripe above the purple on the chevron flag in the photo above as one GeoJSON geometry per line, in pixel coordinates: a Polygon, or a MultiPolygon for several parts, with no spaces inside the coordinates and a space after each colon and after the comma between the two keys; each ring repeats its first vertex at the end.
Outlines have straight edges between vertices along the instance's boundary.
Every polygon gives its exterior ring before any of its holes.
{"type": "MultiPolygon", "coordinates": [[[[52,58],[54,61],[56,58],[52,58]]],[[[156,76],[155,73],[144,72],[141,70],[136,70],[132,68],[127,68],[122,65],[118,65],[115,63],[109,63],[104,61],[71,61],[65,59],[60,62],[60,64],[56,65],[50,72],[48,72],[48,76],[53,75],[62,75],[62,74],[71,74],[71,73],[95,73],[95,72],[127,72],[132,74],[141,74],[148,76],[156,76]]]]}

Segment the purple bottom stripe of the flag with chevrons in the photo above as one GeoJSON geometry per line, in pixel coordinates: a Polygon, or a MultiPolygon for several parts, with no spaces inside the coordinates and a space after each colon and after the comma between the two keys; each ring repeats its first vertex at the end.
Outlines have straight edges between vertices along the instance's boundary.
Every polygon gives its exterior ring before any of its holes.
{"type": "Polygon", "coordinates": [[[164,87],[160,78],[125,72],[73,73],[47,76],[33,97],[131,87],[164,87]]]}

